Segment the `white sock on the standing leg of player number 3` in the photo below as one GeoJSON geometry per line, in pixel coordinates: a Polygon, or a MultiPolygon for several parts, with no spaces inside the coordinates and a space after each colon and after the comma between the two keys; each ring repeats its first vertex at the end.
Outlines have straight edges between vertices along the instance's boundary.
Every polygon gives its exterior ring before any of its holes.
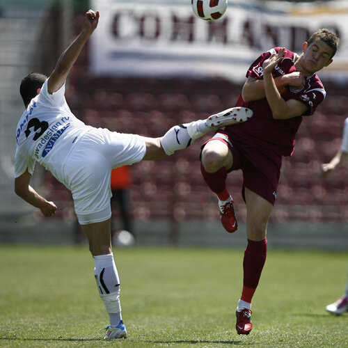
{"type": "Polygon", "coordinates": [[[120,306],[120,278],[113,254],[94,256],[94,276],[100,298],[109,314],[111,326],[116,326],[122,319],[120,306]]]}

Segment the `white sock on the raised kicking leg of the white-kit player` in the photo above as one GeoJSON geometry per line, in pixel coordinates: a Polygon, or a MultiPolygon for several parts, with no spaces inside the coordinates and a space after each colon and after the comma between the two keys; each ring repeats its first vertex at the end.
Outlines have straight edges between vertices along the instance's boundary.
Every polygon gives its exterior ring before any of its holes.
{"type": "Polygon", "coordinates": [[[197,120],[184,125],[176,125],[161,138],[161,145],[167,155],[173,155],[177,150],[188,148],[193,141],[212,130],[205,120],[197,120]]]}

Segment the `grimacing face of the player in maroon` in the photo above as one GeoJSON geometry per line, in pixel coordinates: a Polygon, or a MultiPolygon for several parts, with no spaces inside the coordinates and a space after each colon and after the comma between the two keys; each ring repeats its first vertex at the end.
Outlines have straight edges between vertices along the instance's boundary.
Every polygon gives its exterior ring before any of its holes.
{"type": "Polygon", "coordinates": [[[307,76],[314,74],[331,62],[333,49],[320,39],[315,40],[309,46],[307,42],[303,44],[303,56],[301,65],[307,76]]]}

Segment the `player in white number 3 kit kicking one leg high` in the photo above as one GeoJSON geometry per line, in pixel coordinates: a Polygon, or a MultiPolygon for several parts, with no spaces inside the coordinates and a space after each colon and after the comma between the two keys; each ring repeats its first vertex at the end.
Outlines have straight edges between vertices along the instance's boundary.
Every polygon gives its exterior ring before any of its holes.
{"type": "Polygon", "coordinates": [[[65,100],[65,80],[100,14],[88,10],[84,28],[63,52],[52,74],[31,73],[22,80],[20,93],[26,106],[17,126],[15,192],[45,216],[56,205],[31,186],[35,161],[72,192],[77,219],[88,238],[95,261],[94,275],[100,297],[109,314],[105,339],[125,338],[127,331],[120,308],[120,280],[111,249],[111,170],[141,160],[161,159],[187,148],[207,132],[244,122],[253,115],[246,108],[232,108],[172,127],[161,138],[120,134],[85,125],[70,111],[65,100]]]}

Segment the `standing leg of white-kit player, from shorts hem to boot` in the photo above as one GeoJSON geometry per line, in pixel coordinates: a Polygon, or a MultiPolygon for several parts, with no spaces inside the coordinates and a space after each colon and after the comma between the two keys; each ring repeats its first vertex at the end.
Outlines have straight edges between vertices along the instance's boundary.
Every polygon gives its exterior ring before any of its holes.
{"type": "Polygon", "coordinates": [[[120,278],[111,249],[111,219],[81,226],[95,262],[94,276],[100,298],[109,314],[110,325],[105,328],[104,339],[126,338],[127,330],[122,322],[120,306],[120,278]]]}

